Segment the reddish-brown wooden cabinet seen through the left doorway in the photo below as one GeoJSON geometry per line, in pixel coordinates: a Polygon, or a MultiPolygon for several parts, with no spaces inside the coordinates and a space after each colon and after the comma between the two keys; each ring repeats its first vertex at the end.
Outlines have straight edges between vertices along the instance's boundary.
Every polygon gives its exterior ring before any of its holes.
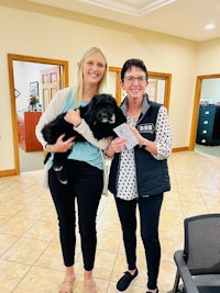
{"type": "Polygon", "coordinates": [[[35,136],[35,126],[42,112],[24,112],[23,117],[18,117],[19,146],[24,151],[43,150],[35,136]]]}

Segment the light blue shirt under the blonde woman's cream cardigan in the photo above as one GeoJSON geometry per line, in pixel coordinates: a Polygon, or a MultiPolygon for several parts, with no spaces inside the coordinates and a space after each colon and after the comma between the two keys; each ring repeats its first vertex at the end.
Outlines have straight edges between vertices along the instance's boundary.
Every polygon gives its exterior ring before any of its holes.
{"type": "MultiPolygon", "coordinates": [[[[80,103],[81,106],[85,106],[87,104],[88,104],[87,101],[81,101],[80,103]]],[[[66,102],[65,102],[65,105],[62,112],[66,112],[69,109],[76,109],[75,103],[74,103],[74,90],[73,89],[69,90],[66,97],[66,102]]],[[[51,158],[53,159],[53,156],[51,156],[51,158]]],[[[103,170],[103,161],[101,158],[100,149],[88,142],[75,143],[73,146],[72,153],[68,156],[68,159],[86,161],[90,164],[91,166],[95,166],[103,170]]],[[[52,161],[50,165],[52,165],[52,161]]]]}

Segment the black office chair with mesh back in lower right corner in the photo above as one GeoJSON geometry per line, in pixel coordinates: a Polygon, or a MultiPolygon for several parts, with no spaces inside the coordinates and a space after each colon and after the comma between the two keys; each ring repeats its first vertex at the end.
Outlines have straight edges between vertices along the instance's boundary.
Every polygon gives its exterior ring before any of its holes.
{"type": "Polygon", "coordinates": [[[173,293],[220,293],[220,214],[186,218],[184,229],[184,250],[174,253],[173,293]]]}

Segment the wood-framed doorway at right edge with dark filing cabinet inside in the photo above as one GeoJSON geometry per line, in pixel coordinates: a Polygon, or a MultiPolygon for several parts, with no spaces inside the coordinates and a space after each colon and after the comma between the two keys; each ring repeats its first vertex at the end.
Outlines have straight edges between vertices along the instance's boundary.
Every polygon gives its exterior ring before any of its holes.
{"type": "Polygon", "coordinates": [[[220,157],[220,75],[198,76],[190,150],[220,157]]]}

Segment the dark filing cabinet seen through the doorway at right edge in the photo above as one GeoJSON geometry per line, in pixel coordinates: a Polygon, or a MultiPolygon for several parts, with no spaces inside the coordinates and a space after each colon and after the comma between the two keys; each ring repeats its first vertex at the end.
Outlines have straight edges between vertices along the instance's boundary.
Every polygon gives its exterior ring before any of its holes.
{"type": "Polygon", "coordinates": [[[200,105],[197,144],[220,145],[220,105],[200,105]]]}

